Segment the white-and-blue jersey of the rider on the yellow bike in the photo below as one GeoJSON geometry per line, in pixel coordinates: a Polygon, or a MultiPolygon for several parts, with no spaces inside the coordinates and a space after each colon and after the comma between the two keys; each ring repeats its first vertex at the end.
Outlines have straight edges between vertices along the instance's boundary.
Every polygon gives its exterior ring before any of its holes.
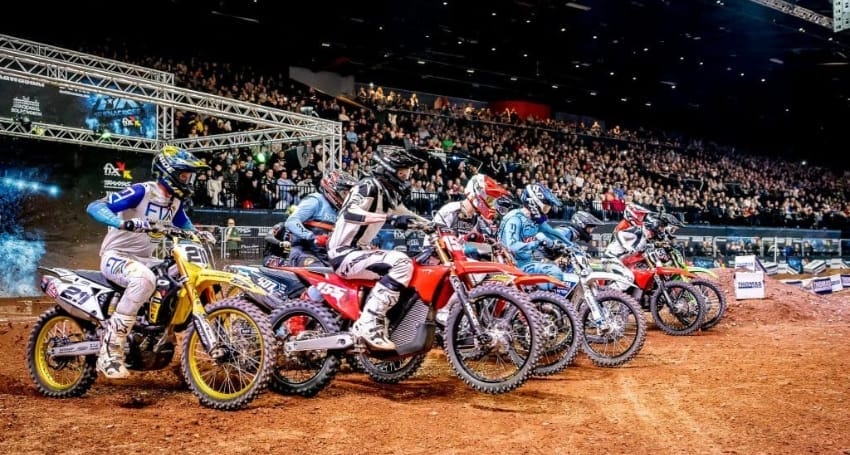
{"type": "Polygon", "coordinates": [[[156,234],[119,229],[124,221],[141,218],[152,225],[173,225],[194,230],[183,211],[183,201],[168,194],[157,182],[136,183],[119,193],[113,193],[89,204],[86,211],[98,222],[109,226],[100,246],[104,251],[117,251],[137,257],[150,257],[156,245],[151,237],[156,234]]]}

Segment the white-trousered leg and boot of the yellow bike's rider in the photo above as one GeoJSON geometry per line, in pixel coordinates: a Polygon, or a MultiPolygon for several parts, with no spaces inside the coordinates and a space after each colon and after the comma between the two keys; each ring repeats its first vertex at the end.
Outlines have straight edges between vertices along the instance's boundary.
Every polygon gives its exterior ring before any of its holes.
{"type": "Polygon", "coordinates": [[[145,264],[114,251],[103,253],[100,271],[110,281],[125,287],[125,290],[115,312],[106,321],[97,370],[108,378],[122,379],[130,374],[124,365],[127,335],[136,323],[139,308],[153,294],[156,277],[145,264]]]}

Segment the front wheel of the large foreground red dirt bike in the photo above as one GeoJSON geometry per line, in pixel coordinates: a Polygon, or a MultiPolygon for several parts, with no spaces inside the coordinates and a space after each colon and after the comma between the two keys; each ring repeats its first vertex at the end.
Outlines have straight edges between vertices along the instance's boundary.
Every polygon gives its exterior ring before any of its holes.
{"type": "Polygon", "coordinates": [[[504,285],[476,286],[468,298],[480,330],[463,304],[452,306],[444,334],[449,363],[479,392],[510,392],[528,380],[540,358],[541,316],[525,294],[504,285]]]}

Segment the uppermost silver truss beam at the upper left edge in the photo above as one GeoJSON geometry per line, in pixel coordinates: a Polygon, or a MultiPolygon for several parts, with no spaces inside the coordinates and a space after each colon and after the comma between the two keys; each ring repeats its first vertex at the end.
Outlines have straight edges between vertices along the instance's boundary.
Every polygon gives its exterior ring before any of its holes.
{"type": "Polygon", "coordinates": [[[159,71],[144,66],[131,65],[107,58],[96,57],[49,44],[28,41],[14,36],[0,34],[0,50],[13,50],[29,55],[47,57],[56,62],[82,65],[89,68],[102,69],[110,73],[125,74],[135,79],[161,82],[174,85],[174,74],[159,71]]]}

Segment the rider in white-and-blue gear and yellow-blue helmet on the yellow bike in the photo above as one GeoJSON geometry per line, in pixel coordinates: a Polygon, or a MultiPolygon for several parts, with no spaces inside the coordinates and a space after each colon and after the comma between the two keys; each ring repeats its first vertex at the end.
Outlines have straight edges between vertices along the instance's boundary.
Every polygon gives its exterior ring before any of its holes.
{"type": "MultiPolygon", "coordinates": [[[[207,168],[191,153],[166,146],[153,158],[151,174],[155,180],[133,184],[91,202],[86,209],[96,221],[109,226],[100,247],[100,272],[125,288],[115,312],[104,323],[97,358],[97,370],[108,378],[129,375],[124,365],[127,335],[155,288],[156,278],[148,268],[155,247],[149,234],[152,225],[195,230],[184,206],[192,195],[196,174],[207,168]]],[[[200,234],[214,241],[211,233],[200,234]]]]}

